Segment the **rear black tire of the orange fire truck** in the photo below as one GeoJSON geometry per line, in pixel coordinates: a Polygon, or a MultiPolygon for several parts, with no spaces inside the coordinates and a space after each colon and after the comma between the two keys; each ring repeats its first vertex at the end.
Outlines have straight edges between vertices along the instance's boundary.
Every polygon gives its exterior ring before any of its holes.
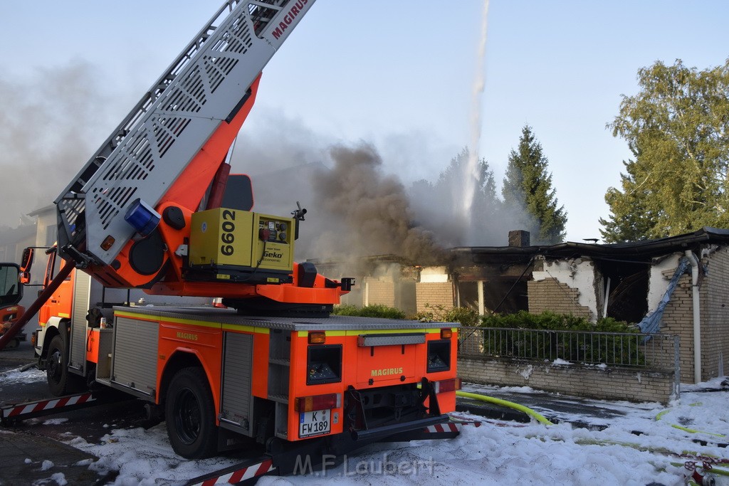
{"type": "Polygon", "coordinates": [[[183,368],[172,377],[165,420],[172,449],[183,458],[207,458],[217,452],[213,396],[203,369],[183,368]]]}

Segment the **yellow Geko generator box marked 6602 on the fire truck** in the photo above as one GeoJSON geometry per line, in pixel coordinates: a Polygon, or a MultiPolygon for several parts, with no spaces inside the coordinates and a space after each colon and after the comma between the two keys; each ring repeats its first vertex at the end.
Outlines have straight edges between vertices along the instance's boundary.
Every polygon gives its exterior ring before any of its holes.
{"type": "Polygon", "coordinates": [[[192,214],[188,262],[195,280],[286,283],[294,264],[295,220],[216,208],[192,214]]]}

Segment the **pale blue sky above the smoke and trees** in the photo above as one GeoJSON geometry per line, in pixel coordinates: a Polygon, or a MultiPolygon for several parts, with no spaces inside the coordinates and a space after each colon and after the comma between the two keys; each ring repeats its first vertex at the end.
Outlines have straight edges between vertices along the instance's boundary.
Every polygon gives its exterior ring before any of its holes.
{"type": "MultiPolygon", "coordinates": [[[[218,6],[1,1],[0,82],[53,83],[52,68],[89,63],[93,85],[120,106],[93,131],[95,149],[218,6]]],[[[316,0],[265,68],[243,130],[280,119],[313,144],[371,141],[406,186],[437,179],[470,143],[482,9],[481,0],[316,0]]],[[[727,1],[491,0],[479,153],[499,186],[531,125],[568,213],[568,240],[599,238],[604,194],[629,157],[605,126],[620,95],[635,94],[637,70],[655,60],[723,63],[727,20],[727,1]]]]}

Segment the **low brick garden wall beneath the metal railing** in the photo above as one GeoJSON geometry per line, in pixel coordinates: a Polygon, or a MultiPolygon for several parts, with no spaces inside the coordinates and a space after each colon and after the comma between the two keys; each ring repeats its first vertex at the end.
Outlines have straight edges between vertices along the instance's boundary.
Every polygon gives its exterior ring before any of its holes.
{"type": "Polygon", "coordinates": [[[470,383],[530,386],[593,399],[667,404],[677,396],[673,372],[459,357],[458,375],[470,383]]]}

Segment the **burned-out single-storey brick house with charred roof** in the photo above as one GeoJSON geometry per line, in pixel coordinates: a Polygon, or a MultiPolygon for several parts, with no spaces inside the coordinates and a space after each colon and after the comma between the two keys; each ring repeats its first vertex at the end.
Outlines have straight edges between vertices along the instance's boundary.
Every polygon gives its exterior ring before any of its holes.
{"type": "Polygon", "coordinates": [[[440,305],[481,314],[551,310],[590,321],[612,317],[644,332],[679,335],[683,383],[724,375],[729,230],[553,246],[530,246],[524,232],[512,233],[510,246],[451,248],[439,267],[377,256],[368,257],[369,271],[350,275],[332,262],[315,262],[328,276],[358,279],[357,290],[346,297],[355,305],[385,304],[411,314],[440,305]]]}

